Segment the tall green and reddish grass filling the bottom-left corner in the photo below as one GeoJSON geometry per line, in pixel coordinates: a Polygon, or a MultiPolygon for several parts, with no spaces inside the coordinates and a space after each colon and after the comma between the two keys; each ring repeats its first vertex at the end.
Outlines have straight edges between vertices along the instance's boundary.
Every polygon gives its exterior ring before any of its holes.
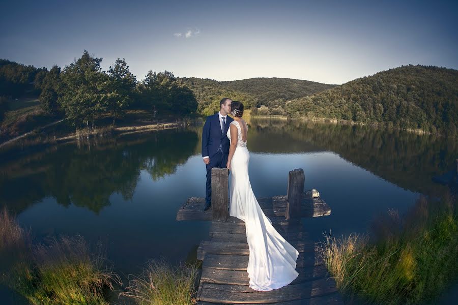
{"type": "Polygon", "coordinates": [[[32,304],[107,304],[120,278],[104,267],[100,247],[92,253],[81,236],[32,245],[5,208],[0,215],[1,280],[32,304]]]}

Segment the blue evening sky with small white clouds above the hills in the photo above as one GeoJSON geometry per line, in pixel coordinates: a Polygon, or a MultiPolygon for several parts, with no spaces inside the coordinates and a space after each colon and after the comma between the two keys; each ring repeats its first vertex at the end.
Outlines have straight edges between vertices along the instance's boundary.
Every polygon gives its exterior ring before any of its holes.
{"type": "Polygon", "coordinates": [[[402,65],[458,69],[458,1],[3,1],[0,58],[64,68],[84,50],[218,81],[342,84],[402,65]]]}

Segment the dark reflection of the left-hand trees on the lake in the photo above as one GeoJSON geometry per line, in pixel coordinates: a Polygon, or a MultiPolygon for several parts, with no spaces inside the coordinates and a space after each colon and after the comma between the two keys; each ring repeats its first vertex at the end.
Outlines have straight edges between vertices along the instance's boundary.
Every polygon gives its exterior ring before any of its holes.
{"type": "Polygon", "coordinates": [[[53,197],[98,214],[113,193],[132,199],[141,170],[153,180],[175,173],[196,142],[195,132],[167,130],[48,148],[0,167],[0,205],[20,212],[53,197]]]}

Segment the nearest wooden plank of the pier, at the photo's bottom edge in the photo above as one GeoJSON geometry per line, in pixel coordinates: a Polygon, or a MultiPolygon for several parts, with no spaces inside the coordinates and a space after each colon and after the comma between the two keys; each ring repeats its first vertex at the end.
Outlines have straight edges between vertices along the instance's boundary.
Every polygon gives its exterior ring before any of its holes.
{"type": "Polygon", "coordinates": [[[271,291],[255,291],[245,285],[202,283],[197,300],[222,304],[260,304],[293,301],[324,296],[336,292],[334,281],[319,279],[295,285],[287,285],[271,291]]]}

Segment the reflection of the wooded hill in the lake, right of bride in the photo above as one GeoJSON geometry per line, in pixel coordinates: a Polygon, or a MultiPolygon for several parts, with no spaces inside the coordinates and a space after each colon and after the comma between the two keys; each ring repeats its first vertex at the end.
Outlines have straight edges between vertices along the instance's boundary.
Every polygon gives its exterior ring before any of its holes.
{"type": "Polygon", "coordinates": [[[412,192],[441,194],[431,178],[450,170],[458,142],[368,126],[252,118],[253,153],[333,151],[347,161],[412,192]]]}

